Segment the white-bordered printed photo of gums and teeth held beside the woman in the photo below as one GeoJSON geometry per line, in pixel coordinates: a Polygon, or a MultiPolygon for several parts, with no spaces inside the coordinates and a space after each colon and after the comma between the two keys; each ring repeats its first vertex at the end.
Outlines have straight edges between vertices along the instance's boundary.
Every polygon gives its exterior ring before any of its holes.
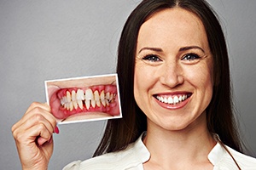
{"type": "Polygon", "coordinates": [[[47,103],[60,123],[122,117],[117,74],[45,81],[47,103]]]}

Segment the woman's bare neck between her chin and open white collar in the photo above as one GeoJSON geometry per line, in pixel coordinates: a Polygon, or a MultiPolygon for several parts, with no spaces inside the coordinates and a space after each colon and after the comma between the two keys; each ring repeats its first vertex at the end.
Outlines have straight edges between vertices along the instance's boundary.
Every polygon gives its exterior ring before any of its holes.
{"type": "Polygon", "coordinates": [[[207,130],[206,121],[181,130],[168,130],[148,120],[148,131],[143,142],[151,154],[148,164],[151,167],[152,164],[161,166],[161,169],[208,164],[207,156],[216,144],[207,130]]]}

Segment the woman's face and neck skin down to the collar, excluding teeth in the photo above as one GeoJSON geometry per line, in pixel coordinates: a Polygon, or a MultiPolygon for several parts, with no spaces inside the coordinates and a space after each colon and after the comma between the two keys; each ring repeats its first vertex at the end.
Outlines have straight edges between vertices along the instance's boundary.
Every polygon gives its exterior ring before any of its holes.
{"type": "Polygon", "coordinates": [[[212,169],[207,155],[216,142],[205,111],[212,99],[212,65],[207,34],[195,14],[168,8],[141,26],[134,96],[148,120],[143,142],[151,157],[145,169],[212,169]],[[179,94],[189,95],[177,105],[155,97],[179,94]]]}

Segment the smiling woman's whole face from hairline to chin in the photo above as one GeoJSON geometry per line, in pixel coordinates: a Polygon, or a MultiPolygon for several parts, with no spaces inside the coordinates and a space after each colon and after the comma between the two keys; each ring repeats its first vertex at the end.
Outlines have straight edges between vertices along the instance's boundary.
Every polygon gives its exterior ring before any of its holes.
{"type": "Polygon", "coordinates": [[[201,20],[182,8],[151,16],[137,39],[134,95],[148,126],[181,130],[206,123],[212,54],[201,20]]]}

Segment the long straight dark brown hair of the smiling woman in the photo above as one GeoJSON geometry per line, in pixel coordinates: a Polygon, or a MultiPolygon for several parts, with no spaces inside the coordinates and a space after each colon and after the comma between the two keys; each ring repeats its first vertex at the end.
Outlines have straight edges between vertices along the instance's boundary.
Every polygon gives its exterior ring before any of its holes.
{"type": "Polygon", "coordinates": [[[205,26],[214,65],[214,87],[212,101],[207,107],[207,127],[209,132],[218,133],[224,144],[241,151],[232,111],[228,52],[216,14],[205,0],[143,0],[126,20],[119,40],[117,73],[123,118],[108,120],[94,156],[124,150],[147,130],[147,118],[137,106],[133,94],[137,36],[143,23],[165,8],[184,8],[196,14],[205,26]]]}

